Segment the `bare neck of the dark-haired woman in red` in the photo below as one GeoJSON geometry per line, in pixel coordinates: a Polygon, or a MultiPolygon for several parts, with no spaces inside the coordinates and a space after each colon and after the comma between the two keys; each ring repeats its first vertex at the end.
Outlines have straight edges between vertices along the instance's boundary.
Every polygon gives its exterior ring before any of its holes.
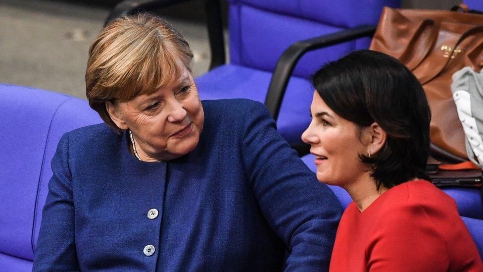
{"type": "Polygon", "coordinates": [[[352,182],[345,188],[352,200],[359,208],[359,212],[364,212],[379,196],[387,191],[387,188],[381,184],[379,189],[370,174],[364,175],[358,181],[352,182]]]}

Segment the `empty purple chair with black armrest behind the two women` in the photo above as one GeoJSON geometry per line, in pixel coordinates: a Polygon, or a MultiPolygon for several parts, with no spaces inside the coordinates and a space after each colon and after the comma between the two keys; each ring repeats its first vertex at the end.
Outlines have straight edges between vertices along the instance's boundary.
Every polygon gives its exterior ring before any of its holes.
{"type": "MultiPolygon", "coordinates": [[[[264,102],[272,72],[290,45],[359,25],[376,25],[383,6],[400,0],[228,0],[230,64],[196,79],[201,99],[249,98],[264,102]]],[[[277,119],[290,144],[310,122],[309,77],[321,64],[369,47],[362,38],[305,54],[295,66],[277,119]]]]}

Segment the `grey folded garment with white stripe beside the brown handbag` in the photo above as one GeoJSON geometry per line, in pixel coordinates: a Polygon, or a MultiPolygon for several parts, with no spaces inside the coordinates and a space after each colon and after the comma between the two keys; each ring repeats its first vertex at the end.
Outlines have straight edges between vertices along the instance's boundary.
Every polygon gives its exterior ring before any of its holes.
{"type": "Polygon", "coordinates": [[[468,157],[483,168],[483,72],[469,66],[457,71],[451,92],[465,131],[468,157]]]}

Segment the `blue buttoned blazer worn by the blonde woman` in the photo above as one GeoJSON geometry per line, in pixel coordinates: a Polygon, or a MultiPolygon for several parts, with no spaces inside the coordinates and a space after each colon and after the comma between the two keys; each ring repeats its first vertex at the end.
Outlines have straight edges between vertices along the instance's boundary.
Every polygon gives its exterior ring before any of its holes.
{"type": "Polygon", "coordinates": [[[66,133],[33,270],[328,270],[342,212],[334,193],[262,104],[203,109],[198,145],[169,162],[138,161],[126,133],[105,124],[66,133]]]}

